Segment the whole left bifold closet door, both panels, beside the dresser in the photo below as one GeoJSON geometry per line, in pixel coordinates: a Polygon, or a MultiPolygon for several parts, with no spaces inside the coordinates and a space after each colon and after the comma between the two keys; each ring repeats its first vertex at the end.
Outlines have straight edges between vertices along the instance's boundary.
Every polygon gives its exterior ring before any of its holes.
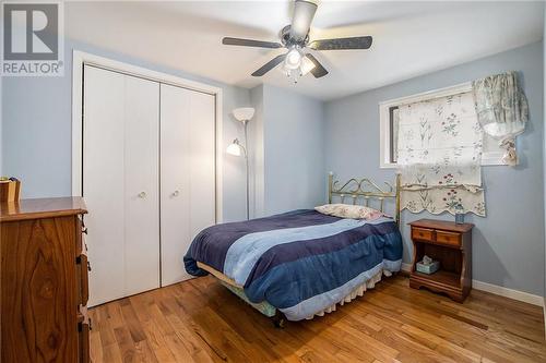
{"type": "Polygon", "coordinates": [[[159,84],[86,65],[90,305],[159,287],[159,84]]]}

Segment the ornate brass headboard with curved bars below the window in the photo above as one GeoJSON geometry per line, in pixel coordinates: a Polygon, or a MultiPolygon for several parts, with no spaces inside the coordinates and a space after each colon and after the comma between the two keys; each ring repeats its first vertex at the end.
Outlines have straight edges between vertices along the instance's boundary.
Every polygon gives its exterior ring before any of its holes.
{"type": "Polygon", "coordinates": [[[400,174],[396,174],[394,187],[389,182],[384,182],[384,184],[387,186],[381,189],[368,178],[352,178],[345,184],[340,186],[340,181],[334,181],[334,174],[331,172],[328,174],[328,203],[332,203],[333,196],[339,196],[341,198],[341,203],[344,203],[345,198],[352,198],[353,204],[356,204],[360,197],[364,198],[366,206],[369,205],[370,199],[376,199],[379,201],[380,210],[383,211],[384,199],[394,198],[396,208],[394,218],[396,222],[400,223],[400,174]]]}

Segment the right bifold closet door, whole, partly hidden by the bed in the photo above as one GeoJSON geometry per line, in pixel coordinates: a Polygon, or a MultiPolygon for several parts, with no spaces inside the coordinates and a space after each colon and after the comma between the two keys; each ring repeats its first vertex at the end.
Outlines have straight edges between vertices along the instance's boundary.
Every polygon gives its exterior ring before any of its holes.
{"type": "Polygon", "coordinates": [[[215,222],[215,98],[161,85],[162,286],[190,276],[182,257],[215,222]]]}

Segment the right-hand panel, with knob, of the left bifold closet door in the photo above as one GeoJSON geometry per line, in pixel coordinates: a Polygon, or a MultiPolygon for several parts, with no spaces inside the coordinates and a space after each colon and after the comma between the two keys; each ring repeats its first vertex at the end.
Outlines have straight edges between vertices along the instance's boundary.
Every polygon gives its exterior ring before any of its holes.
{"type": "Polygon", "coordinates": [[[126,295],[159,287],[159,84],[126,76],[126,295]]]}

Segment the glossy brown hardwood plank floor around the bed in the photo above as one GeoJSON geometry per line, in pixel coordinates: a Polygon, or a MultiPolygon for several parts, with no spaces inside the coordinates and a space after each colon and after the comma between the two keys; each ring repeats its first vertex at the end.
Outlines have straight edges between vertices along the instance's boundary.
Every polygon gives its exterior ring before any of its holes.
{"type": "Polygon", "coordinates": [[[91,316],[93,362],[546,362],[542,307],[477,290],[459,304],[401,276],[285,329],[212,277],[91,316]]]}

